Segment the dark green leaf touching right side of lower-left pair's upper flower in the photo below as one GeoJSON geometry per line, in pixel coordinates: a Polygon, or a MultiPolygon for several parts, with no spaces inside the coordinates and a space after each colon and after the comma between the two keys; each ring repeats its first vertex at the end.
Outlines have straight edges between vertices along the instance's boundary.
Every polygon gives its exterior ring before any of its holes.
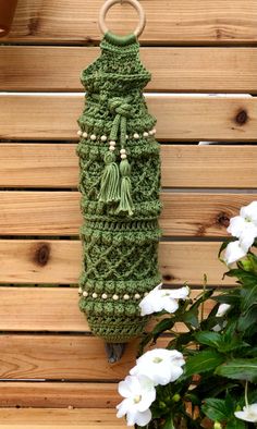
{"type": "Polygon", "coordinates": [[[185,365],[184,377],[191,377],[196,373],[212,371],[222,364],[224,357],[212,350],[197,353],[195,356],[188,357],[185,365]]]}

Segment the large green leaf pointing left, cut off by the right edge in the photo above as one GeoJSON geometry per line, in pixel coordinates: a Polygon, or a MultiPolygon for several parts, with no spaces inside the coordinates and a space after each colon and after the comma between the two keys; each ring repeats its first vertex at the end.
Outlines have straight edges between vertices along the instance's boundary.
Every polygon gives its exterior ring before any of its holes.
{"type": "Polygon", "coordinates": [[[257,382],[257,358],[229,360],[220,365],[215,373],[233,380],[257,382]]]}

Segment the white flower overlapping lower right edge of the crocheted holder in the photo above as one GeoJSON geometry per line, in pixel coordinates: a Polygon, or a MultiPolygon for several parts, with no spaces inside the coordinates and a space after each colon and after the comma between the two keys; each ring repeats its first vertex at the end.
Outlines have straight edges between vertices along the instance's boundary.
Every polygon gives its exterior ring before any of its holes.
{"type": "Polygon", "coordinates": [[[189,294],[189,287],[181,289],[161,289],[162,284],[156,286],[140,303],[140,315],[151,315],[166,310],[175,312],[179,308],[179,299],[186,299],[189,294]]]}

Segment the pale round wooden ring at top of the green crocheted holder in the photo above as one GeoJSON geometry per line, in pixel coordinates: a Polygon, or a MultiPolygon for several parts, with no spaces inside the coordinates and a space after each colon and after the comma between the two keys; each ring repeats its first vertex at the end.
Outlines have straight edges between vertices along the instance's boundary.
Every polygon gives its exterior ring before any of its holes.
{"type": "Polygon", "coordinates": [[[99,13],[99,27],[101,33],[105,35],[106,33],[109,32],[109,28],[106,25],[106,15],[109,9],[117,3],[130,3],[137,11],[139,16],[139,22],[136,29],[133,33],[136,37],[139,37],[146,25],[146,15],[144,9],[142,8],[140,3],[137,0],[107,0],[103,3],[99,13]]]}

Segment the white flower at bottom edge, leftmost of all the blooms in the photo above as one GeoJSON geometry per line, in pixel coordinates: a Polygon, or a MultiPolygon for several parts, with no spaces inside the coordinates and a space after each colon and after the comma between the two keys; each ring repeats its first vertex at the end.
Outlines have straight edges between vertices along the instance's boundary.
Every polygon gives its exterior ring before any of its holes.
{"type": "Polygon", "coordinates": [[[119,383],[119,393],[124,400],[117,406],[117,417],[126,415],[127,426],[146,426],[151,419],[150,405],[156,399],[152,381],[145,376],[127,376],[119,383]]]}

